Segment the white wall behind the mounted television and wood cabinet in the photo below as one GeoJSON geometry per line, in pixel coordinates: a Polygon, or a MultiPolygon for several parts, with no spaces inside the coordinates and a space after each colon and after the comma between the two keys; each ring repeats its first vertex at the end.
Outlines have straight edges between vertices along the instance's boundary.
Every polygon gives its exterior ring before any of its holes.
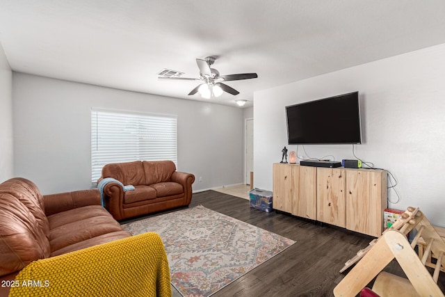
{"type": "MultiPolygon", "coordinates": [[[[287,145],[284,107],[358,90],[363,144],[355,154],[398,179],[389,207],[420,207],[445,227],[445,44],[254,94],[255,186],[272,190],[272,164],[287,145]]],[[[329,127],[327,127],[329,129],[329,127]]],[[[355,159],[352,145],[305,145],[310,157],[355,159]]],[[[299,154],[302,154],[299,146],[299,154]]]]}

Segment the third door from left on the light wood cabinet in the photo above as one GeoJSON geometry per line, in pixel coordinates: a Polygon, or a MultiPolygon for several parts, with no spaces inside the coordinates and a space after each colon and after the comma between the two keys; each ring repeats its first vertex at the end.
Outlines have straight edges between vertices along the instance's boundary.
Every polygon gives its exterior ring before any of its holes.
{"type": "Polygon", "coordinates": [[[317,220],[346,227],[345,170],[317,168],[317,220]]]}

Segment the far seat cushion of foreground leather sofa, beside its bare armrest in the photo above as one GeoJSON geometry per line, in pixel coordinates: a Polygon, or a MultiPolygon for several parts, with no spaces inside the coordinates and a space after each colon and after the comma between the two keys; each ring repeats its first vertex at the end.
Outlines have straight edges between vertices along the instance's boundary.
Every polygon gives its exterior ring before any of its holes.
{"type": "Polygon", "coordinates": [[[63,211],[49,216],[48,220],[51,254],[74,243],[122,231],[120,224],[100,205],[63,211]]]}

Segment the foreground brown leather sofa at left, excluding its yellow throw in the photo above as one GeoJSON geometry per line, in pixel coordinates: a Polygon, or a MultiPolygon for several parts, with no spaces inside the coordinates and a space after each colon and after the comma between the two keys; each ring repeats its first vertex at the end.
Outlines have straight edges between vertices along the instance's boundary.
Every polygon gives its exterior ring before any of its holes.
{"type": "Polygon", "coordinates": [[[100,205],[97,189],[42,195],[33,182],[0,184],[0,296],[37,259],[131,236],[100,205]]]}

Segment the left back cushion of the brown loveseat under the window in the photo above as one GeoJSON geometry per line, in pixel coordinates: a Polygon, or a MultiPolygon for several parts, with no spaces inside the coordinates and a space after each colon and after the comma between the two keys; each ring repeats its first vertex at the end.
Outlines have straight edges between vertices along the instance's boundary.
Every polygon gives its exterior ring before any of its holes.
{"type": "Polygon", "coordinates": [[[110,163],[102,168],[102,177],[113,177],[124,186],[145,184],[145,173],[141,161],[110,163]]]}

